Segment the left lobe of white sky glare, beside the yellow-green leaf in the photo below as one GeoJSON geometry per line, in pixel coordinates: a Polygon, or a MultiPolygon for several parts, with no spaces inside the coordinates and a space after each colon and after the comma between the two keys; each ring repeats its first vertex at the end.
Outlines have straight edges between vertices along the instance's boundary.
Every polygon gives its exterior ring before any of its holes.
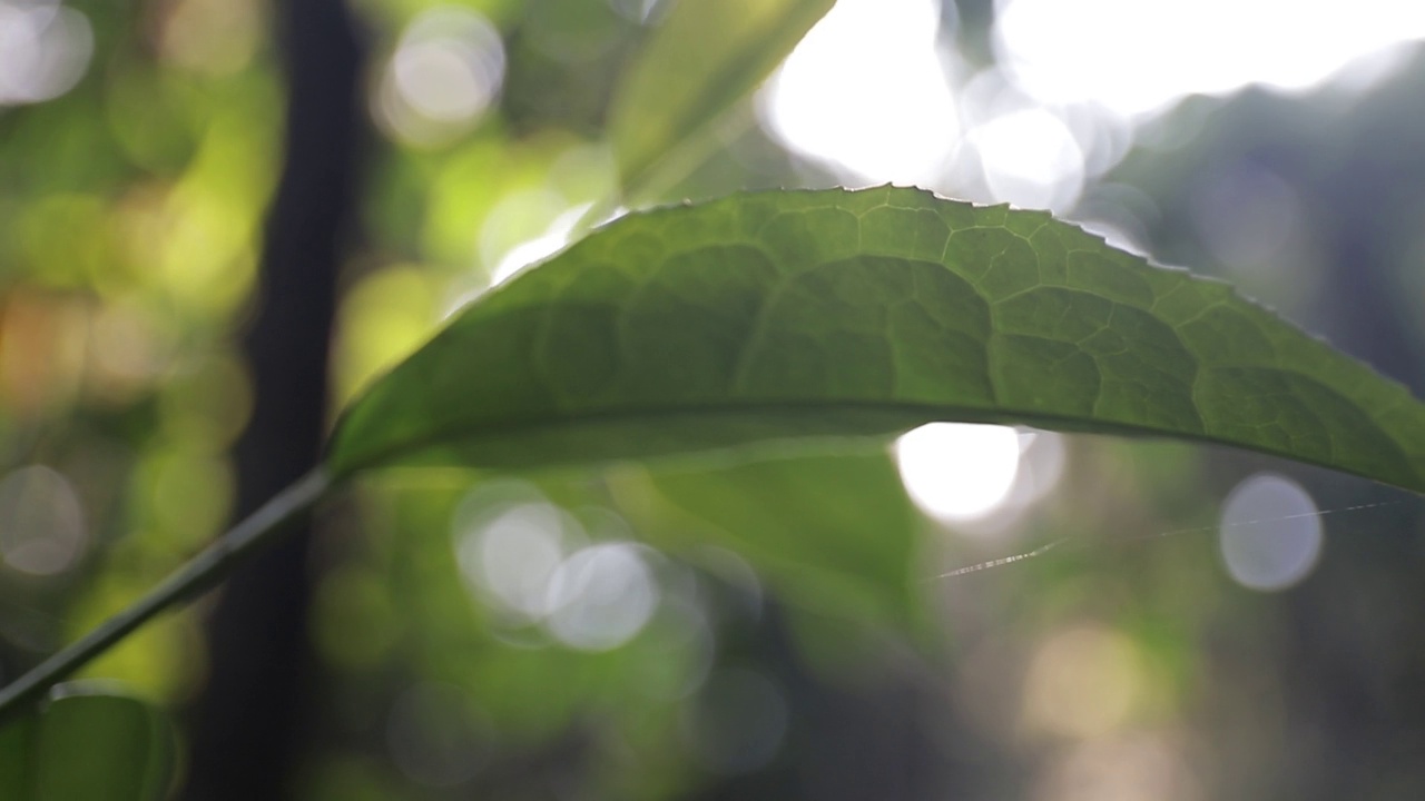
{"type": "Polygon", "coordinates": [[[933,0],[836,3],[768,83],[771,131],[865,181],[935,184],[959,137],[939,11],[933,0]]]}

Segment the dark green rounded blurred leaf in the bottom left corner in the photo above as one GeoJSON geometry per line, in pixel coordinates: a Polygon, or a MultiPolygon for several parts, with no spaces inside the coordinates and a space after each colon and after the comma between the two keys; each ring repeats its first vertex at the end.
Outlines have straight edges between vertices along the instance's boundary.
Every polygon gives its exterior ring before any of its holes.
{"type": "Polygon", "coordinates": [[[172,775],[172,734],[150,704],[61,686],[40,714],[0,728],[0,798],[157,801],[172,775]]]}

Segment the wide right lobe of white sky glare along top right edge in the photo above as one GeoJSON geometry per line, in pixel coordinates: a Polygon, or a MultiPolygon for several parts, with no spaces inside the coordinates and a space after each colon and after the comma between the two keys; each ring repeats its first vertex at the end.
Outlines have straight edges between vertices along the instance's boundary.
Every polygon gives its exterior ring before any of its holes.
{"type": "Polygon", "coordinates": [[[1425,4],[1399,0],[1349,13],[1314,0],[1009,0],[996,24],[1002,61],[1035,98],[1123,117],[1253,83],[1305,90],[1421,37],[1425,4]]]}

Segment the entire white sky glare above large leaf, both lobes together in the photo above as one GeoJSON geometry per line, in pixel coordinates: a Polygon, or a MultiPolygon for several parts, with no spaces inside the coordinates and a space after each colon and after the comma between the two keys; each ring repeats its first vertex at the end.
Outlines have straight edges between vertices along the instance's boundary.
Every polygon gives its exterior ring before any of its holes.
{"type": "Polygon", "coordinates": [[[1127,153],[1131,121],[1251,84],[1365,90],[1425,37],[1425,6],[1391,0],[999,6],[1000,67],[972,76],[936,0],[839,0],[760,94],[762,124],[845,182],[1066,212],[1127,153]]]}

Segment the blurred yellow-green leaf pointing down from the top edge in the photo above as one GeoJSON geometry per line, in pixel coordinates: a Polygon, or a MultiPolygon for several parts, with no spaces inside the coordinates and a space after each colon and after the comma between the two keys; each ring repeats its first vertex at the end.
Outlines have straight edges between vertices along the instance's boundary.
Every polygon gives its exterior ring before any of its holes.
{"type": "Polygon", "coordinates": [[[630,63],[608,110],[628,195],[665,158],[690,160],[698,134],[752,91],[835,0],[675,0],[630,63]]]}

